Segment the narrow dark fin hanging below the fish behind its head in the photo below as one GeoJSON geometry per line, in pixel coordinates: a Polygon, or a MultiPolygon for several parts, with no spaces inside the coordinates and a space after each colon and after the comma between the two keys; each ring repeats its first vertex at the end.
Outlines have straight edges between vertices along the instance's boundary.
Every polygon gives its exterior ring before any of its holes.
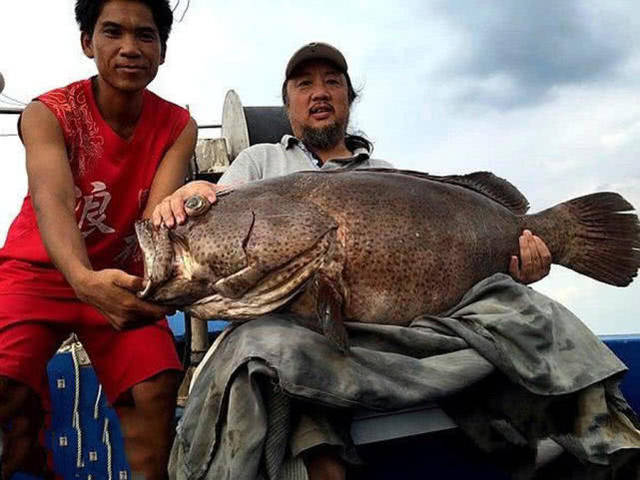
{"type": "Polygon", "coordinates": [[[320,330],[338,350],[346,353],[349,350],[349,335],[342,317],[342,296],[329,280],[321,276],[316,276],[313,284],[320,330]]]}

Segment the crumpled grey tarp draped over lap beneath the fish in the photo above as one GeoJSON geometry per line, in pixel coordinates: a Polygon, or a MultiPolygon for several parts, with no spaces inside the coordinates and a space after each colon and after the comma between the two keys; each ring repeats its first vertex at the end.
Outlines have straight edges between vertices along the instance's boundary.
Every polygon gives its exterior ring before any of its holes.
{"type": "Polygon", "coordinates": [[[228,333],[193,384],[171,477],[304,478],[287,458],[290,404],[300,399],[374,410],[435,400],[486,450],[551,435],[606,464],[640,447],[617,389],[626,367],[571,312],[506,275],[442,316],[347,328],[346,355],[285,314],[228,333]]]}

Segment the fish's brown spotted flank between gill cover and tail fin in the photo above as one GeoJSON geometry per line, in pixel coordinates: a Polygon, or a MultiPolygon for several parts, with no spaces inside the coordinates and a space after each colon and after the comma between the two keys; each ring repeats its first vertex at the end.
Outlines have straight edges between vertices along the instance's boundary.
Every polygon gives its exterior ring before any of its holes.
{"type": "Polygon", "coordinates": [[[477,281],[506,272],[518,251],[519,217],[468,189],[404,174],[383,182],[365,171],[294,175],[290,195],[339,225],[348,319],[405,325],[442,312],[477,281]]]}

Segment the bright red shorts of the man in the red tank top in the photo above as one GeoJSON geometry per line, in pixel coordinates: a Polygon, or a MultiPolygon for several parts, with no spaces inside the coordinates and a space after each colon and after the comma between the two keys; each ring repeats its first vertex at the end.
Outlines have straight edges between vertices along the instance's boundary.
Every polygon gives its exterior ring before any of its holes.
{"type": "Polygon", "coordinates": [[[71,332],[112,404],[143,380],[182,369],[166,320],[118,332],[77,299],[0,294],[0,375],[30,386],[47,405],[46,366],[71,332]]]}

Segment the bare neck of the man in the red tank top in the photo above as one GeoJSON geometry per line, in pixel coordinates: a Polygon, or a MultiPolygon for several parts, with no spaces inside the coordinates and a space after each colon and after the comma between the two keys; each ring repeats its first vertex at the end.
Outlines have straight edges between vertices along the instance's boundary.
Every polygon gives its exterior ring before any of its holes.
{"type": "Polygon", "coordinates": [[[96,77],[92,83],[96,105],[102,118],[122,138],[130,138],[142,113],[143,90],[116,90],[100,77],[96,77]]]}

